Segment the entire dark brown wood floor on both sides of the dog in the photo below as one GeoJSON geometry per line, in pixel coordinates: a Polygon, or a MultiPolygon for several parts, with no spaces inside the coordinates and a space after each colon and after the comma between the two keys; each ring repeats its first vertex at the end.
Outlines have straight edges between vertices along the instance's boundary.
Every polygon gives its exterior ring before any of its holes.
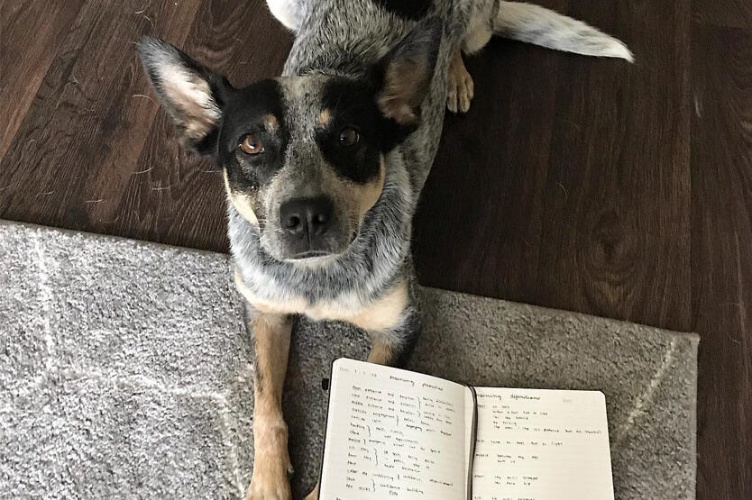
{"type": "MultiPolygon", "coordinates": [[[[546,0],[627,41],[492,41],[417,215],[422,283],[702,335],[698,496],[752,498],[752,3],[546,0]]],[[[259,2],[0,1],[0,217],[227,250],[221,177],[179,150],[133,41],[235,84],[289,34],[259,2]]]]}

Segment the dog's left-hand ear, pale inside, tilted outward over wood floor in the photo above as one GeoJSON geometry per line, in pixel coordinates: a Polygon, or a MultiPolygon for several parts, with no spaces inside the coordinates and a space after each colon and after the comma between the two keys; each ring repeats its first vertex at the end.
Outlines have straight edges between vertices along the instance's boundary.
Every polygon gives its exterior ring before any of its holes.
{"type": "Polygon", "coordinates": [[[222,108],[233,87],[225,77],[200,66],[165,41],[144,37],[138,52],[180,142],[189,150],[214,156],[222,108]]]}

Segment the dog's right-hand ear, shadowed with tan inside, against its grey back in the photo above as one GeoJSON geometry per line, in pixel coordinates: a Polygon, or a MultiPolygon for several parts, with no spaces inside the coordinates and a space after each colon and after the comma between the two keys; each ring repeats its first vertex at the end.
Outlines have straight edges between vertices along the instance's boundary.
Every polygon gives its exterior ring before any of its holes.
{"type": "Polygon", "coordinates": [[[424,19],[378,64],[382,82],[377,102],[381,112],[400,125],[420,121],[420,105],[434,76],[441,33],[437,18],[424,19]]]}

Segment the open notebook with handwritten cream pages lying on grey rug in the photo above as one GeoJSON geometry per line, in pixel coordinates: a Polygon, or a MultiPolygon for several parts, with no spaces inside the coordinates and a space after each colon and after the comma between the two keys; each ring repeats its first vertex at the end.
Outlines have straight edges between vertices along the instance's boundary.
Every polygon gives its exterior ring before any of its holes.
{"type": "Polygon", "coordinates": [[[613,499],[600,391],[471,387],[337,359],[320,498],[613,499]]]}

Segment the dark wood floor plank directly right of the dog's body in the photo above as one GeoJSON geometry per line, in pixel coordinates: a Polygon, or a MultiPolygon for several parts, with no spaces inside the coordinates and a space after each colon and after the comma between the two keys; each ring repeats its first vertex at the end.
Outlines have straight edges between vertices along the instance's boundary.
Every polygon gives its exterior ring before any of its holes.
{"type": "Polygon", "coordinates": [[[446,118],[413,224],[421,283],[535,301],[560,60],[501,40],[467,59],[475,97],[446,118]]]}

